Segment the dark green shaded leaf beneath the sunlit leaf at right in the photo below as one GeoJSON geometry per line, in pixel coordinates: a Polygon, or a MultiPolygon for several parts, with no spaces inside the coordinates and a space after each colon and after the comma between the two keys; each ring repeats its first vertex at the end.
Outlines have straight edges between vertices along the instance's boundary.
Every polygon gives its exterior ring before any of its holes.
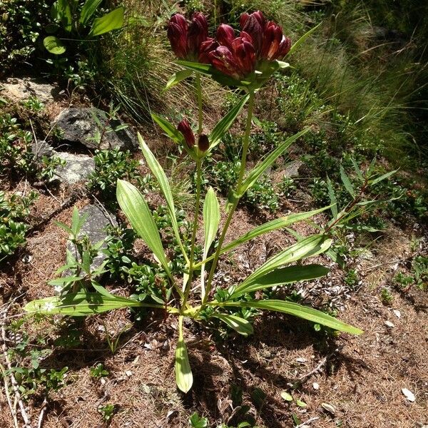
{"type": "Polygon", "coordinates": [[[315,278],[327,275],[329,271],[330,269],[322,265],[281,267],[279,269],[272,270],[271,272],[267,272],[265,275],[262,275],[253,281],[247,282],[245,286],[238,286],[235,288],[230,298],[235,299],[247,292],[265,290],[265,288],[275,287],[275,285],[314,280],[315,278]]]}

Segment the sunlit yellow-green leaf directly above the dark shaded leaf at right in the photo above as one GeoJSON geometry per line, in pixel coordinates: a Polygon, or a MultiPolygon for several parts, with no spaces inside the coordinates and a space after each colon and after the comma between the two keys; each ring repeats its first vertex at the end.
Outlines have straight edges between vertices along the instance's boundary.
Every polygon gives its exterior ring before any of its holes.
{"type": "Polygon", "coordinates": [[[246,287],[248,284],[254,283],[255,280],[258,280],[258,278],[267,274],[271,270],[277,269],[278,267],[301,260],[302,258],[324,253],[328,248],[330,248],[330,245],[332,245],[332,240],[327,238],[325,235],[312,235],[308,238],[302,239],[267,260],[265,264],[258,267],[258,269],[247,277],[240,287],[246,287]]]}

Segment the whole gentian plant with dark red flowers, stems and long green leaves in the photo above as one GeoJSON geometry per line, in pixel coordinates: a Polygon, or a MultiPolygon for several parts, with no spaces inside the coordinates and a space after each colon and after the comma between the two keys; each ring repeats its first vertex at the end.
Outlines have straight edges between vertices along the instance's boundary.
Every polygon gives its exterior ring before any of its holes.
{"type": "MultiPolygon", "coordinates": [[[[290,39],[282,34],[281,27],[275,22],[266,21],[260,11],[253,14],[243,14],[240,19],[240,26],[241,31],[237,36],[231,26],[222,24],[217,29],[215,39],[211,39],[208,37],[208,24],[203,14],[194,14],[190,22],[184,16],[175,14],[168,24],[170,44],[179,58],[178,64],[184,69],[175,73],[168,81],[167,87],[169,88],[195,73],[199,107],[198,131],[193,132],[189,121],[186,119],[178,123],[177,126],[156,114],[153,114],[153,120],[195,162],[196,195],[190,250],[183,245],[168,178],[141,135],[138,135],[147,165],[158,180],[165,198],[175,240],[185,260],[182,278],[176,277],[172,272],[171,260],[168,259],[163,248],[161,235],[143,195],[134,185],[125,180],[118,180],[117,183],[117,199],[123,213],[125,213],[136,233],[143,238],[148,248],[151,249],[154,258],[163,267],[165,275],[168,277],[171,291],[165,297],[165,302],[151,299],[150,296],[143,302],[118,297],[112,295],[98,283],[92,282],[91,290],[35,300],[26,305],[27,311],[45,315],[90,315],[120,307],[159,308],[171,315],[176,315],[178,317],[178,342],[175,351],[175,379],[178,388],[183,392],[188,392],[193,383],[193,374],[183,335],[183,319],[185,317],[192,318],[197,322],[216,318],[241,335],[248,336],[253,332],[253,326],[244,317],[235,315],[233,308],[253,308],[253,310],[271,310],[294,315],[342,332],[357,335],[362,333],[356,327],[347,325],[312,307],[298,305],[287,300],[256,297],[258,291],[262,292],[258,293],[260,296],[263,295],[263,290],[271,287],[312,280],[327,274],[328,269],[322,265],[302,265],[300,263],[305,258],[329,250],[332,239],[322,229],[317,235],[299,238],[297,243],[281,250],[266,263],[257,267],[245,280],[230,284],[227,289],[214,290],[214,275],[221,255],[253,238],[272,230],[287,228],[293,223],[310,219],[313,215],[330,208],[326,207],[277,218],[257,226],[230,243],[225,243],[240,198],[256,183],[267,168],[275,163],[291,143],[307,132],[305,129],[287,138],[260,160],[252,170],[247,170],[246,160],[255,94],[274,71],[287,67],[288,64],[283,62],[282,58],[290,53],[293,48],[290,39]],[[225,114],[210,133],[203,131],[200,74],[210,76],[223,85],[241,88],[244,92],[238,103],[225,114]],[[213,188],[208,188],[206,194],[202,194],[203,161],[208,153],[215,150],[245,105],[247,105],[247,118],[240,172],[234,188],[230,189],[223,213],[225,220],[219,229],[222,210],[217,195],[215,195],[213,188]],[[195,246],[198,228],[200,227],[201,205],[204,243],[202,260],[197,260],[195,246]],[[214,251],[213,244],[217,236],[218,241],[214,251]]],[[[301,43],[307,35],[297,41],[297,44],[301,43]]]]}

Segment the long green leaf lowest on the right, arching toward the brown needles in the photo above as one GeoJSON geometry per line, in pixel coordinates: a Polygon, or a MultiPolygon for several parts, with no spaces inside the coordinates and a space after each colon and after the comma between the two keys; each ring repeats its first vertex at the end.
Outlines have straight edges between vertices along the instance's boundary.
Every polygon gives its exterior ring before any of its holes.
{"type": "Polygon", "coordinates": [[[361,335],[362,330],[352,325],[346,324],[337,318],[325,314],[319,310],[313,309],[303,305],[298,305],[294,302],[286,302],[285,300],[250,300],[242,302],[222,302],[221,306],[235,306],[235,307],[254,307],[255,309],[272,310],[275,312],[282,312],[288,315],[302,318],[304,320],[312,321],[325,327],[330,327],[334,330],[350,333],[352,335],[361,335]]]}

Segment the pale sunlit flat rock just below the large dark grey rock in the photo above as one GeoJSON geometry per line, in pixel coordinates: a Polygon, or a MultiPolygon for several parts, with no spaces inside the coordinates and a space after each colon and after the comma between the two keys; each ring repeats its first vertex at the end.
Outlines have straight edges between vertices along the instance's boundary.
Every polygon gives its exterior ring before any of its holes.
{"type": "Polygon", "coordinates": [[[56,168],[53,180],[73,184],[86,181],[89,175],[95,172],[95,161],[91,156],[73,155],[65,152],[56,152],[55,156],[66,161],[66,165],[60,165],[56,168]]]}

